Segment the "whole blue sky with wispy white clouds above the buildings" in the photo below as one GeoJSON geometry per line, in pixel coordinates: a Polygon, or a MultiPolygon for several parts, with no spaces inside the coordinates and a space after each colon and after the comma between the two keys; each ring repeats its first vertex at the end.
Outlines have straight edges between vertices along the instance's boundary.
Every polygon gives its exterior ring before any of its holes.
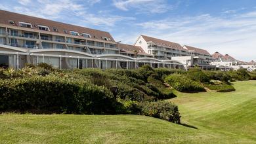
{"type": "Polygon", "coordinates": [[[0,9],[109,31],[140,34],[256,60],[255,0],[0,0],[0,9]]]}

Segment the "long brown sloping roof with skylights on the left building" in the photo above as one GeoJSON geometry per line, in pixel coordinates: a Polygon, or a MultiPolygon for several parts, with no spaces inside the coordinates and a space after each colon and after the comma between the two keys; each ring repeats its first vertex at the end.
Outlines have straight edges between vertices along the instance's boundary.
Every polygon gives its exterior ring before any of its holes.
{"type": "MultiPolygon", "coordinates": [[[[77,31],[78,33],[89,33],[91,35],[92,39],[102,39],[102,37],[107,37],[110,39],[110,41],[114,42],[115,40],[113,39],[112,35],[106,31],[99,31],[96,29],[90,29],[87,27],[81,27],[81,26],[74,26],[71,24],[64,24],[62,22],[55,22],[52,20],[46,20],[43,18],[36,18],[33,16],[27,16],[24,14],[17,14],[14,12],[8,12],[5,10],[0,10],[0,24],[7,24],[10,26],[18,26],[18,22],[26,22],[32,24],[32,29],[37,29],[39,30],[37,25],[41,26],[47,26],[52,32],[53,27],[56,27],[58,29],[58,32],[55,33],[64,33],[64,30],[67,31],[77,31]],[[15,24],[10,24],[10,20],[14,21],[15,24]]],[[[82,36],[81,36],[82,37],[82,36]]]]}

